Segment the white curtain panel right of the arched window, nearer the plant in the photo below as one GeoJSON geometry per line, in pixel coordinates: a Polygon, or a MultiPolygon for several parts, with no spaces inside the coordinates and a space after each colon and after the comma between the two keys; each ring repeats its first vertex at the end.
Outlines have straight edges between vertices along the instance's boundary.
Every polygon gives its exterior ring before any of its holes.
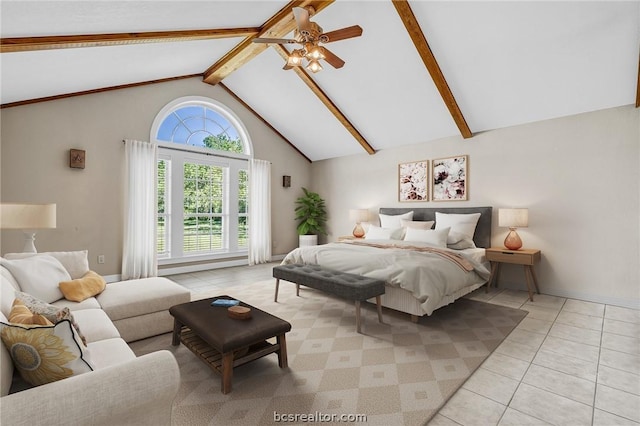
{"type": "Polygon", "coordinates": [[[249,265],[271,261],[271,163],[249,160],[249,265]]]}

